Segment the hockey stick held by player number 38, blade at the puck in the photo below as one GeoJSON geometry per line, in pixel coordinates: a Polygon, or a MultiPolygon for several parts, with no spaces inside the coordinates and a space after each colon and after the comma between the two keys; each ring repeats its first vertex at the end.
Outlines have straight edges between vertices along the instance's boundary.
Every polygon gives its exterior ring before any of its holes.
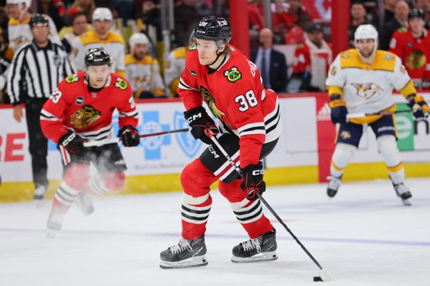
{"type": "MultiPolygon", "coordinates": [[[[213,136],[212,134],[207,134],[207,136],[209,136],[212,141],[214,142],[214,144],[216,145],[216,147],[218,147],[218,149],[221,151],[221,153],[223,153],[224,157],[230,162],[230,164],[234,167],[234,169],[236,170],[236,172],[239,173],[239,175],[241,175],[241,177],[243,178],[242,175],[242,170],[239,168],[239,166],[236,165],[236,163],[234,163],[234,161],[232,160],[232,158],[227,154],[227,152],[225,152],[223,146],[221,146],[221,144],[218,142],[218,140],[216,140],[215,136],[213,136]]],[[[261,195],[259,193],[256,193],[257,197],[261,200],[261,202],[263,202],[264,206],[266,206],[266,208],[268,208],[268,210],[270,211],[270,213],[272,213],[272,215],[274,217],[276,217],[277,221],[282,224],[282,226],[284,226],[284,228],[286,229],[286,231],[288,231],[290,233],[290,235],[294,238],[295,242],[297,242],[300,247],[302,247],[302,249],[304,250],[304,252],[306,252],[306,254],[309,256],[309,258],[311,258],[311,260],[321,269],[320,271],[320,280],[322,281],[329,281],[332,280],[332,278],[330,278],[329,274],[327,274],[326,271],[324,271],[324,269],[322,269],[321,265],[318,263],[318,261],[316,261],[315,258],[313,258],[313,256],[311,255],[311,253],[306,249],[306,247],[304,247],[304,245],[302,244],[302,242],[300,242],[300,240],[298,240],[298,238],[294,235],[294,233],[289,229],[288,226],[286,226],[286,224],[281,220],[281,218],[279,217],[279,215],[277,215],[277,213],[275,213],[275,211],[273,210],[273,208],[271,206],[269,206],[269,204],[266,202],[266,199],[264,199],[263,197],[261,197],[261,195]]],[[[314,281],[318,281],[318,276],[313,277],[314,281]]]]}

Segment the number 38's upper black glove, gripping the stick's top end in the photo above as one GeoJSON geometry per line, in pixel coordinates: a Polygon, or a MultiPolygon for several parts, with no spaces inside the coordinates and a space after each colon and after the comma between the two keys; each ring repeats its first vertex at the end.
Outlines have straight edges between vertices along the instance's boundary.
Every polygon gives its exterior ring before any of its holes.
{"type": "Polygon", "coordinates": [[[216,135],[219,131],[206,109],[203,106],[194,107],[185,111],[184,116],[191,127],[191,135],[206,144],[211,144],[212,140],[207,134],[216,135]]]}

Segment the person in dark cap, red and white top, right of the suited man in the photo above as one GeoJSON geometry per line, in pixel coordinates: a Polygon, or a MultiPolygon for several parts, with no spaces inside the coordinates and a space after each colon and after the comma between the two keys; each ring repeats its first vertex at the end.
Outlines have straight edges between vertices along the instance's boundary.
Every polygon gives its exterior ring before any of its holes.
{"type": "Polygon", "coordinates": [[[322,27],[311,24],[306,28],[304,44],[295,48],[291,78],[302,80],[300,90],[325,91],[325,79],[332,60],[332,48],[324,40],[322,27]]]}

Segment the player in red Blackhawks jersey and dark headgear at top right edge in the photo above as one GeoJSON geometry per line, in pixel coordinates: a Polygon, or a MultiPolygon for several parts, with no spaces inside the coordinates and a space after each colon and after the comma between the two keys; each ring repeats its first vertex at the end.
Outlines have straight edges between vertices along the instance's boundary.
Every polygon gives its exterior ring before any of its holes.
{"type": "Polygon", "coordinates": [[[390,52],[402,59],[412,80],[422,82],[430,79],[430,35],[424,28],[424,12],[413,8],[408,15],[409,27],[399,28],[390,41],[390,52]]]}

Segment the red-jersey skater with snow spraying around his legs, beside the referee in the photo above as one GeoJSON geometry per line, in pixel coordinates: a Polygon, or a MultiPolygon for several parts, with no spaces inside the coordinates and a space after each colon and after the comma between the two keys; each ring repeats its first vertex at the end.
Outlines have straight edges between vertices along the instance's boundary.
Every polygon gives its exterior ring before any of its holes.
{"type": "Polygon", "coordinates": [[[110,55],[91,48],[85,55],[86,71],[69,75],[58,84],[40,114],[44,135],[58,143],[66,165],[65,176],[53,199],[48,219],[49,236],[76,202],[85,215],[94,211],[89,194],[119,190],[124,184],[126,163],[114,144],[85,148],[85,141],[114,137],[112,112],[119,111],[119,133],[126,147],[139,145],[137,109],[130,84],[110,73],[110,55]],[[89,176],[89,163],[97,169],[89,176]]]}

